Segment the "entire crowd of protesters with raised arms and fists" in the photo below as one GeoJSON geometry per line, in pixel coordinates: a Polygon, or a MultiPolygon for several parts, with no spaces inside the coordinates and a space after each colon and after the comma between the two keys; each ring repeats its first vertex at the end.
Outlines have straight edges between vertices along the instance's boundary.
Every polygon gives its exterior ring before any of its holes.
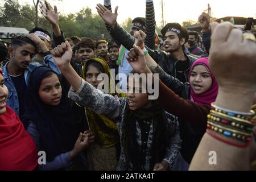
{"type": "Polygon", "coordinates": [[[96,9],[110,41],[66,38],[40,2],[53,34],[0,45],[0,170],[255,169],[255,32],[202,13],[158,35],[153,0],[127,32],[96,9]]]}

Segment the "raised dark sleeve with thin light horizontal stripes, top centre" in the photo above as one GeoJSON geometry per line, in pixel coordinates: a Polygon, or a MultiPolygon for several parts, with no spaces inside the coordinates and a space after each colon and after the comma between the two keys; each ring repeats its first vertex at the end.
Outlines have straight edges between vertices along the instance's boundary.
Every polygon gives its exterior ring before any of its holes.
{"type": "Polygon", "coordinates": [[[154,3],[146,2],[146,40],[145,45],[150,48],[155,48],[155,9],[154,3]]]}

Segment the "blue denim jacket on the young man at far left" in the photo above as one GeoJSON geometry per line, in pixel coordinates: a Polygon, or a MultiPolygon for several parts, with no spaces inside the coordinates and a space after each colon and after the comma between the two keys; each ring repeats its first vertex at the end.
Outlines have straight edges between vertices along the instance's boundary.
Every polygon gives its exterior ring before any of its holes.
{"type": "MultiPolygon", "coordinates": [[[[11,107],[11,109],[13,109],[17,115],[19,115],[18,93],[16,92],[14,83],[11,80],[11,77],[9,76],[9,74],[7,72],[6,67],[8,64],[9,64],[9,62],[6,63],[5,66],[2,68],[4,77],[5,77],[5,85],[7,86],[8,90],[9,90],[9,95],[8,95],[6,104],[9,107],[11,107]]],[[[55,64],[55,62],[53,60],[52,55],[48,55],[48,56],[44,57],[44,64],[47,67],[51,68],[53,71],[55,71],[57,74],[61,74],[59,68],[57,67],[57,65],[55,64]]],[[[39,64],[39,63],[31,63],[25,69],[24,77],[25,77],[26,84],[28,83],[28,78],[30,76],[30,73],[33,71],[33,69],[35,69],[36,67],[39,67],[40,65],[41,64],[39,64]]],[[[26,93],[24,93],[24,94],[26,94],[26,93]]]]}

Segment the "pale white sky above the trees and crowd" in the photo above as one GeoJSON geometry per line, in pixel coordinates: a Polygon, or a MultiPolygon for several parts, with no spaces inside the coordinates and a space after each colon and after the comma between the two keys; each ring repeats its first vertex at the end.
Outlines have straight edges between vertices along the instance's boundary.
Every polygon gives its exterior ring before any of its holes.
{"type": "MultiPolygon", "coordinates": [[[[29,3],[32,0],[19,0],[20,3],[29,3]]],[[[104,0],[48,0],[51,5],[56,5],[59,12],[63,14],[76,13],[82,7],[90,7],[93,13],[97,13],[96,4],[104,3],[104,0]]],[[[118,8],[117,22],[122,23],[128,17],[145,16],[145,0],[111,0],[112,9],[118,8]]],[[[161,0],[153,0],[155,7],[155,20],[158,26],[162,22],[161,0]]],[[[255,0],[163,0],[164,24],[169,22],[182,23],[186,20],[197,21],[198,16],[208,7],[212,7],[212,16],[222,18],[225,16],[243,16],[256,18],[255,0]]]]}

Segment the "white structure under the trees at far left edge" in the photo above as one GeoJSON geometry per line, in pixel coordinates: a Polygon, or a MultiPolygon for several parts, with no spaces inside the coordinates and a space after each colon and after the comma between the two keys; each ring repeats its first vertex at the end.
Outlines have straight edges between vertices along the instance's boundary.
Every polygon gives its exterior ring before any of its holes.
{"type": "Polygon", "coordinates": [[[0,39],[11,39],[14,36],[28,34],[26,28],[0,27],[0,39]]]}

